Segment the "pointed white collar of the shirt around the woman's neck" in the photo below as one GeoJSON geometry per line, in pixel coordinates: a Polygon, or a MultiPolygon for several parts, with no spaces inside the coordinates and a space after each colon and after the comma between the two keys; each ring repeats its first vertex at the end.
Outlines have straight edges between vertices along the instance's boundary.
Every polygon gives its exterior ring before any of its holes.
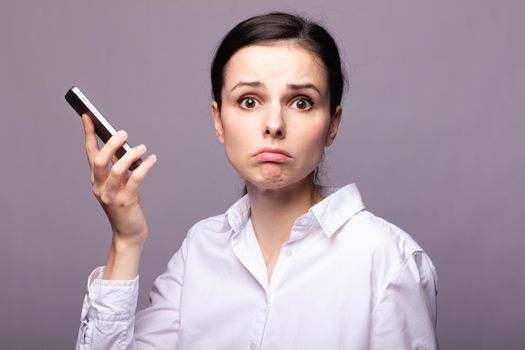
{"type": "MultiPolygon", "coordinates": [[[[352,216],[365,208],[355,183],[344,187],[319,186],[319,190],[325,198],[311,207],[298,221],[310,221],[309,224],[311,225],[313,214],[328,237],[332,236],[352,216]]],[[[250,217],[250,203],[247,194],[226,211],[226,217],[234,232],[244,227],[250,217]]]]}

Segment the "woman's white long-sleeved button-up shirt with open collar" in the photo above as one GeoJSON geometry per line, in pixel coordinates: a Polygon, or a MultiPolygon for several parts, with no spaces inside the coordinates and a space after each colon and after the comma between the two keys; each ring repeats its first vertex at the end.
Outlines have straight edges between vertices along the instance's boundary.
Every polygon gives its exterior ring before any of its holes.
{"type": "Polygon", "coordinates": [[[202,220],[135,316],[138,276],[88,281],[77,349],[437,349],[434,265],[364,209],[355,184],[322,187],[268,284],[248,197],[202,220]]]}

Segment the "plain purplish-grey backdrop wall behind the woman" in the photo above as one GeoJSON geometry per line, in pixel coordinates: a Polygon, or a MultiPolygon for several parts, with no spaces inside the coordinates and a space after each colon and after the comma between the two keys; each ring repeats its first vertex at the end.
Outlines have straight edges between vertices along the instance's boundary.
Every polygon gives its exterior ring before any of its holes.
{"type": "Polygon", "coordinates": [[[429,253],[442,348],[523,349],[525,3],[496,0],[0,2],[2,349],[72,348],[109,246],[66,90],[159,157],[142,188],[143,307],[187,229],[240,195],[209,65],[229,28],[277,9],[340,45],[351,88],[325,183],[356,182],[429,253]]]}

